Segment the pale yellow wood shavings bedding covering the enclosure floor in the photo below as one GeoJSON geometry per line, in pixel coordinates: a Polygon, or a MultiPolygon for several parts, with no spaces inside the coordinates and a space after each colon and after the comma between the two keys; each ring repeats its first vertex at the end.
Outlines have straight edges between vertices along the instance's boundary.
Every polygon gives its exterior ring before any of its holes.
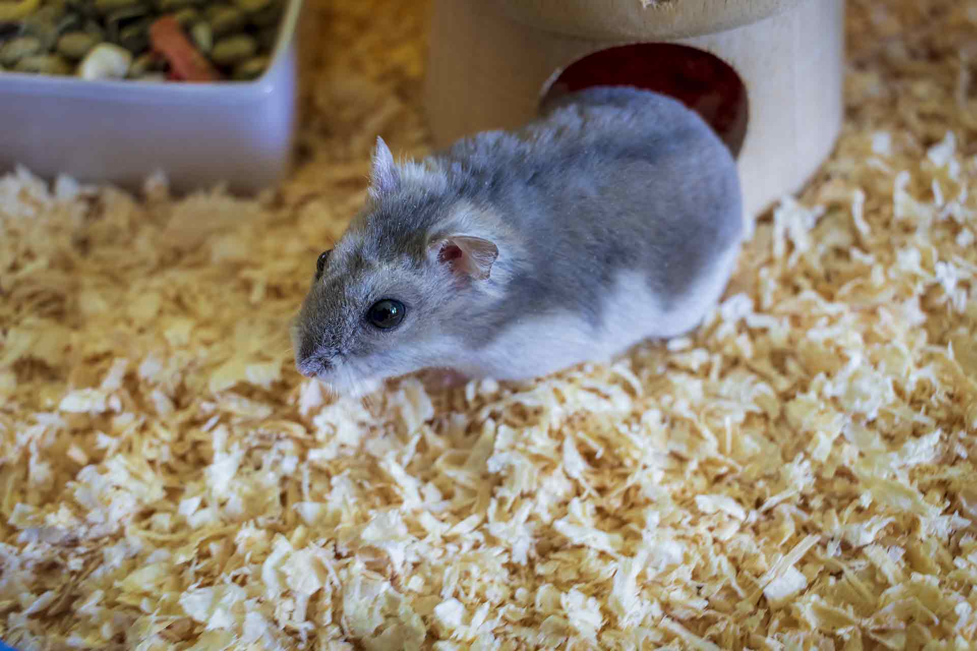
{"type": "Polygon", "coordinates": [[[284,324],[375,134],[424,151],[425,8],[312,9],[274,195],[0,180],[0,639],[977,643],[977,3],[850,5],[838,151],[694,337],[335,403],[284,324]]]}

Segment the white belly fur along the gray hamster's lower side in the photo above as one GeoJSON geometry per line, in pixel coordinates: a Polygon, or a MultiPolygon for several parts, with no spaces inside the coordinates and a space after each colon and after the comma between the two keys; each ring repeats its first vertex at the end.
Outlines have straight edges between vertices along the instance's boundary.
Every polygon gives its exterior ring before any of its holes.
{"type": "Polygon", "coordinates": [[[700,325],[726,289],[736,267],[735,246],[702,277],[686,300],[665,311],[637,272],[617,277],[604,311],[604,326],[571,314],[527,317],[509,325],[488,347],[458,365],[472,377],[520,380],[548,375],[584,362],[605,363],[648,338],[670,338],[700,325]]]}

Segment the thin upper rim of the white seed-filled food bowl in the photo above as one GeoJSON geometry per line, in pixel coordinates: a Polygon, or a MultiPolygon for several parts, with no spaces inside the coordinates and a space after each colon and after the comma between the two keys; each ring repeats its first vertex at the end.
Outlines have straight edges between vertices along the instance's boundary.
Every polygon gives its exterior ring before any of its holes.
{"type": "Polygon", "coordinates": [[[150,93],[214,93],[222,95],[246,94],[253,95],[257,92],[269,93],[273,90],[274,84],[269,81],[273,71],[283,65],[285,59],[291,54],[291,48],[296,40],[296,29],[299,16],[302,13],[304,0],[286,0],[285,11],[278,24],[278,34],[276,36],[275,48],[269,57],[268,67],[260,76],[249,81],[235,81],[233,79],[222,79],[220,81],[206,82],[159,82],[144,81],[140,79],[81,79],[75,75],[55,75],[39,74],[34,72],[15,72],[9,70],[0,71],[0,91],[17,89],[21,92],[36,91],[82,91],[84,94],[99,94],[102,92],[116,92],[118,89],[125,88],[130,92],[150,92],[150,93]]]}

